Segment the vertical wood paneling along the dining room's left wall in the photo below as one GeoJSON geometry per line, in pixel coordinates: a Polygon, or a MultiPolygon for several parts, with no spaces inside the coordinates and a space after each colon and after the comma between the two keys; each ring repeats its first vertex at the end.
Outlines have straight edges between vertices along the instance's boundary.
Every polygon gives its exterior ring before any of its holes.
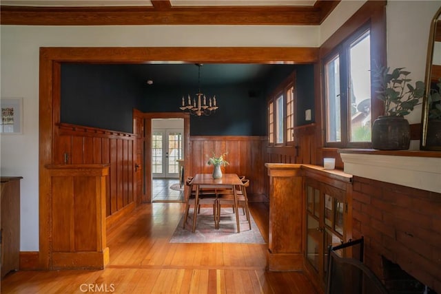
{"type": "Polygon", "coordinates": [[[60,123],[54,137],[54,162],[110,163],[105,185],[106,216],[110,216],[134,201],[134,140],[134,134],[60,123]],[[70,158],[67,162],[65,154],[70,158]]]}

